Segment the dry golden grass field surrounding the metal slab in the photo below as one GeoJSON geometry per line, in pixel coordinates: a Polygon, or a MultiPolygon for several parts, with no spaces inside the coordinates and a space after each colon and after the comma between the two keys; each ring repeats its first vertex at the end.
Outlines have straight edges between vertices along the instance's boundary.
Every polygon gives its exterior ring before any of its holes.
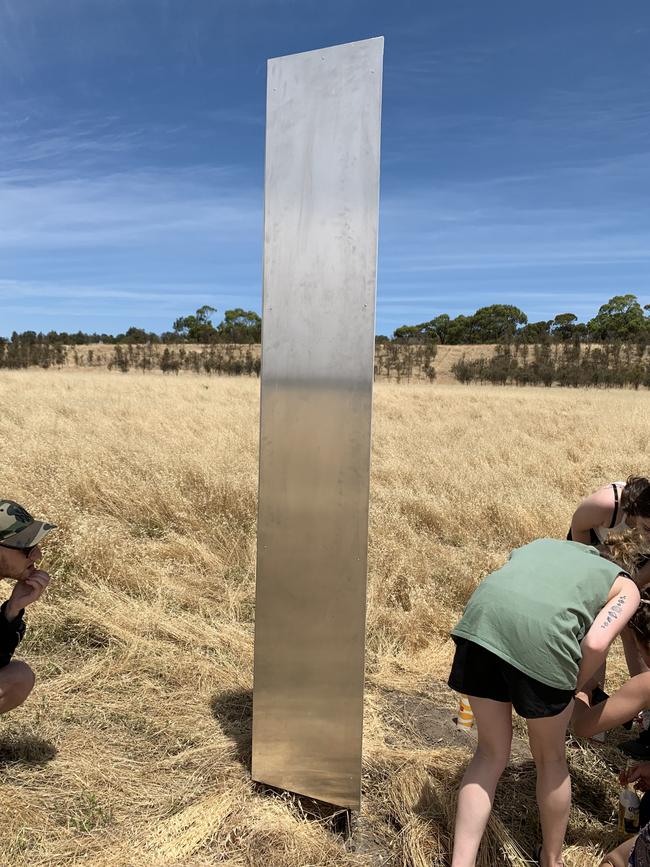
{"type": "MultiPolygon", "coordinates": [[[[2,495],[60,525],[19,652],[37,685],[0,718],[2,867],[445,864],[472,743],[450,721],[450,627],[512,547],[648,468],[647,392],[377,384],[364,812],[346,839],[249,776],[258,388],[0,373],[2,495]]],[[[618,737],[569,745],[568,865],[614,839],[618,737]]],[[[481,867],[530,860],[536,821],[518,738],[481,867]]]]}

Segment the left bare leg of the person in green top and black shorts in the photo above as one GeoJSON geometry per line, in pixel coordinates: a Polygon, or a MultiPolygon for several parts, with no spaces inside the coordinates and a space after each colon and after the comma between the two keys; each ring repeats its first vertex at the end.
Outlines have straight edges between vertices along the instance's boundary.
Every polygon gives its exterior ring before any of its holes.
{"type": "Polygon", "coordinates": [[[485,831],[494,791],[510,758],[512,705],[488,698],[472,698],[478,746],[467,766],[458,793],[452,867],[474,867],[485,831]]]}

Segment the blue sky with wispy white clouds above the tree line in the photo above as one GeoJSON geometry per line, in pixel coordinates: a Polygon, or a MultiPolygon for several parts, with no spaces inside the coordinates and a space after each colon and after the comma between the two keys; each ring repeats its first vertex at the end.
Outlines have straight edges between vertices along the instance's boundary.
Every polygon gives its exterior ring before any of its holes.
{"type": "Polygon", "coordinates": [[[0,0],[0,334],[259,312],[266,60],[378,35],[379,333],[650,303],[646,0],[0,0]]]}

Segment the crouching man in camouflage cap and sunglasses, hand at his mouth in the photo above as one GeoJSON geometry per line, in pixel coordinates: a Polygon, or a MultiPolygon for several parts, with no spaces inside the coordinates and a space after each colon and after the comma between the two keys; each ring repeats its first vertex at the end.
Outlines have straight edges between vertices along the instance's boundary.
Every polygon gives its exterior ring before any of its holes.
{"type": "Polygon", "coordinates": [[[35,521],[13,500],[0,500],[0,577],[16,582],[0,606],[0,714],[22,704],[34,687],[31,668],[12,657],[25,634],[25,608],[40,599],[50,582],[36,564],[42,557],[39,542],[55,526],[35,521]]]}

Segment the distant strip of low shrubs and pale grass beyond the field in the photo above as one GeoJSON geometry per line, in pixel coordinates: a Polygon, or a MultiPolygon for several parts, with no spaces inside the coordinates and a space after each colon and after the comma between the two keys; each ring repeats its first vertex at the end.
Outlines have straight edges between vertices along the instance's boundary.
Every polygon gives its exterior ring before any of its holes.
{"type": "MultiPolygon", "coordinates": [[[[259,376],[259,343],[114,343],[67,346],[47,341],[0,344],[0,369],[75,367],[119,373],[259,376]]],[[[375,380],[395,382],[563,385],[596,388],[650,386],[650,352],[643,343],[548,341],[529,344],[375,344],[375,380]],[[435,362],[435,364],[434,364],[435,362]]]]}

